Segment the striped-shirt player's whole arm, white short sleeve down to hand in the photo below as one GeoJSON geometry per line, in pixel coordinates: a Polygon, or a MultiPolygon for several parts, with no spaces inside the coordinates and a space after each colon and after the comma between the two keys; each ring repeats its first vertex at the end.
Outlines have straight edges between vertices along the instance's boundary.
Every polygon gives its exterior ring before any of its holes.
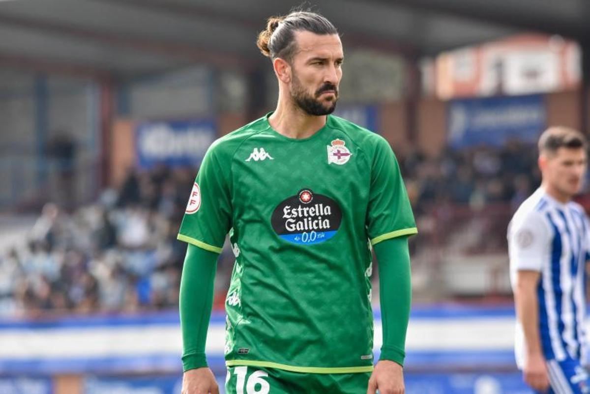
{"type": "Polygon", "coordinates": [[[542,271],[549,264],[550,231],[533,211],[515,216],[510,224],[508,247],[510,265],[515,272],[513,291],[516,317],[525,337],[523,377],[539,392],[549,388],[549,374],[540,340],[537,290],[542,271]]]}

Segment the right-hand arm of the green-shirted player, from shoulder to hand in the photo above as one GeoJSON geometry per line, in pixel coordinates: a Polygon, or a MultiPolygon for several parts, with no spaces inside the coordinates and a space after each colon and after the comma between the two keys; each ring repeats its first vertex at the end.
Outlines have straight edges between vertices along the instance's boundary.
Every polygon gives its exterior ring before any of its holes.
{"type": "Polygon", "coordinates": [[[374,136],[374,142],[366,228],[379,261],[383,346],[367,393],[403,394],[411,303],[408,236],[418,229],[391,146],[381,136],[374,136]]]}

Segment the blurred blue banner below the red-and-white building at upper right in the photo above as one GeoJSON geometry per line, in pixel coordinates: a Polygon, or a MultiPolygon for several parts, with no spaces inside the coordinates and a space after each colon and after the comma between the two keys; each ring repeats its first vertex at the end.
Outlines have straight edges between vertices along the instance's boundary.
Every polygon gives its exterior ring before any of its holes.
{"type": "Polygon", "coordinates": [[[508,139],[535,142],[545,123],[540,95],[453,100],[448,105],[448,143],[463,148],[502,146],[508,139]]]}

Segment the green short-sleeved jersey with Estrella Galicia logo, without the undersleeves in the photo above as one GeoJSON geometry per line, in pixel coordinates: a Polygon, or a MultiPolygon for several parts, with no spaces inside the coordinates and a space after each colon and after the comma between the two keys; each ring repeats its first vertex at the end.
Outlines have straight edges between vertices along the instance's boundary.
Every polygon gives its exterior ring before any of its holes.
{"type": "Polygon", "coordinates": [[[371,370],[371,244],[417,232],[381,136],[327,116],[290,139],[266,116],[217,140],[178,238],[219,252],[228,232],[228,366],[371,370]]]}

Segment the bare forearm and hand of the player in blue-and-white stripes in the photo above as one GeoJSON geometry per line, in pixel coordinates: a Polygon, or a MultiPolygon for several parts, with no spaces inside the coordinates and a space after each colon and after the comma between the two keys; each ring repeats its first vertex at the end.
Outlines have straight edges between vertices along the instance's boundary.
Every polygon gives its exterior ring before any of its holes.
{"type": "Polygon", "coordinates": [[[523,369],[525,382],[533,389],[543,392],[549,388],[549,375],[539,337],[539,300],[537,300],[539,280],[539,271],[518,271],[514,287],[514,303],[517,319],[525,334],[526,354],[523,369]]]}

